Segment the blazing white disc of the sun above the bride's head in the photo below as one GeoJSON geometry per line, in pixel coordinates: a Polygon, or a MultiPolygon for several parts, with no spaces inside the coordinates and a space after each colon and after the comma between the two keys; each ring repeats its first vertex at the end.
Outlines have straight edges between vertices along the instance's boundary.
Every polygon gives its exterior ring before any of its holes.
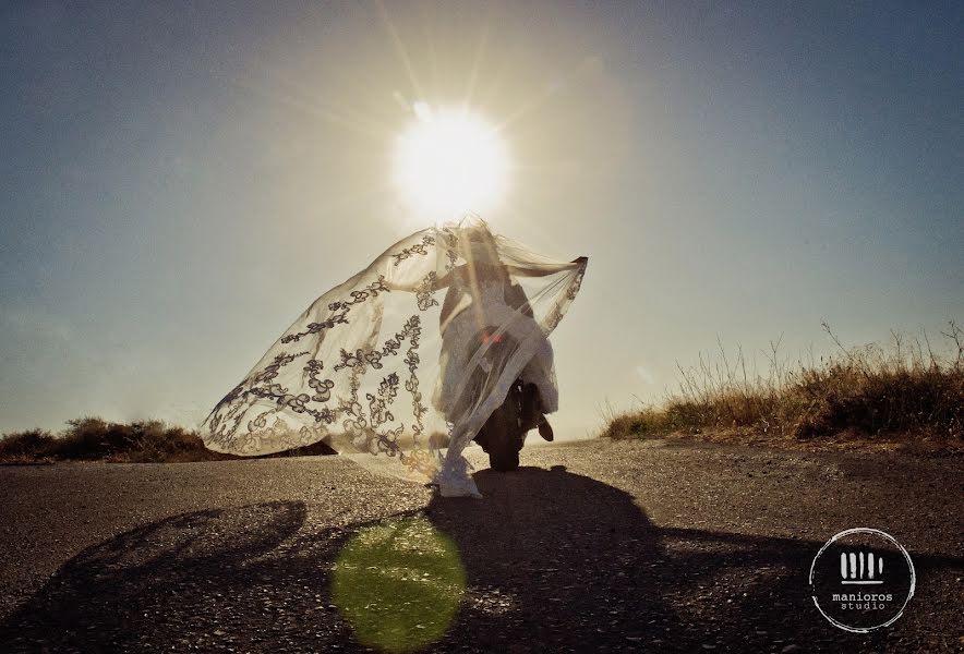
{"type": "Polygon", "coordinates": [[[505,145],[495,129],[466,111],[413,107],[418,121],[398,141],[395,185],[419,210],[436,219],[482,213],[502,198],[505,145]]]}

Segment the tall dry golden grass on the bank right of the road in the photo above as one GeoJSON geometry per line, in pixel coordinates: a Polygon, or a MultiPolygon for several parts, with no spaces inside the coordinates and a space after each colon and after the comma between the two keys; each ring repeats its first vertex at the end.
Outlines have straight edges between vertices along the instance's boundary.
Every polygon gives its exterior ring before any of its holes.
{"type": "Polygon", "coordinates": [[[838,354],[793,365],[771,343],[766,375],[750,374],[743,351],[679,370],[679,390],[659,405],[628,413],[607,407],[602,436],[752,434],[757,439],[816,441],[840,438],[964,444],[964,330],[949,323],[942,343],[927,334],[888,346],[844,348],[823,325],[838,354]]]}

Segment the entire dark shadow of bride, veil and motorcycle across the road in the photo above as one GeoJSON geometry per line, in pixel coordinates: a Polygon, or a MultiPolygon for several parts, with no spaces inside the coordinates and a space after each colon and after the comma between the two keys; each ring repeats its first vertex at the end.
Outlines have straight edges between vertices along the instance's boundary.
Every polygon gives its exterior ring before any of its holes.
{"type": "MultiPolygon", "coordinates": [[[[468,578],[438,651],[926,650],[900,622],[857,637],[817,615],[807,571],[821,543],[658,529],[630,495],[561,467],[475,480],[484,500],[424,510],[468,578]]],[[[62,566],[0,625],[0,651],[363,650],[329,584],[362,526],[315,526],[301,502],[147,524],[62,566]]],[[[921,562],[921,583],[961,568],[921,562]]]]}

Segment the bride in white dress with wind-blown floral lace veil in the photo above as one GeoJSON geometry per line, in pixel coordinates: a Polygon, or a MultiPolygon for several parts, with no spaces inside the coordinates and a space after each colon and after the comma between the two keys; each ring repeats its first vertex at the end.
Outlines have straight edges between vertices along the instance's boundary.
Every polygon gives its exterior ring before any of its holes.
{"type": "Polygon", "coordinates": [[[462,450],[513,382],[529,375],[556,409],[547,337],[586,264],[474,217],[418,231],[294,320],[205,420],[205,445],[256,456],[324,440],[478,495],[462,450]]]}

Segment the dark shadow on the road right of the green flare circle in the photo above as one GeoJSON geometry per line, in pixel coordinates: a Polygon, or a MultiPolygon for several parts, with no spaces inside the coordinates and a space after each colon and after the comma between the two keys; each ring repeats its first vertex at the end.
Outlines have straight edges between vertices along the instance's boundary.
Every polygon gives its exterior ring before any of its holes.
{"type": "MultiPolygon", "coordinates": [[[[916,638],[900,625],[890,640],[847,633],[819,615],[808,573],[822,543],[658,528],[629,494],[563,467],[474,479],[484,501],[430,506],[471,589],[453,629],[463,637],[439,651],[882,652],[916,638]]],[[[924,577],[961,569],[920,562],[924,577]]]]}

